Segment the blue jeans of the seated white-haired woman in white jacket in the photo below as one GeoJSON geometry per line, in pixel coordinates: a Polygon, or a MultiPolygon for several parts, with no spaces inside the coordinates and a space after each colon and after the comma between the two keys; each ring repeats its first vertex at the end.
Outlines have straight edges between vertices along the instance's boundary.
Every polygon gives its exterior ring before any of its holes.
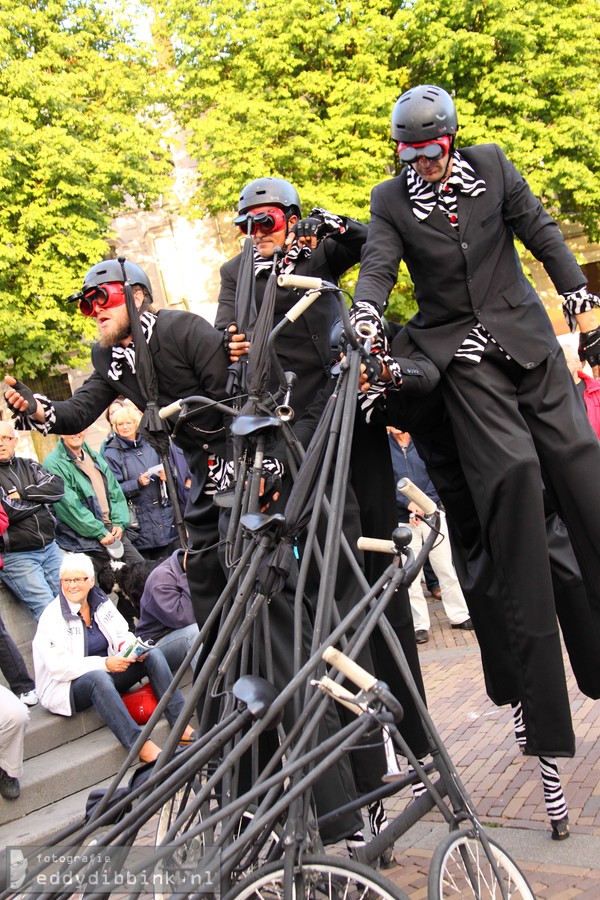
{"type": "MultiPolygon", "coordinates": [[[[129,715],[121,694],[148,676],[158,700],[166,693],[173,676],[162,652],[156,648],[145,660],[132,663],[125,672],[106,672],[99,669],[86,672],[71,682],[73,712],[95,707],[96,712],[127,750],[131,750],[142,729],[129,715]]],[[[183,694],[177,689],[165,709],[165,718],[174,725],[183,709],[183,694]]]]}

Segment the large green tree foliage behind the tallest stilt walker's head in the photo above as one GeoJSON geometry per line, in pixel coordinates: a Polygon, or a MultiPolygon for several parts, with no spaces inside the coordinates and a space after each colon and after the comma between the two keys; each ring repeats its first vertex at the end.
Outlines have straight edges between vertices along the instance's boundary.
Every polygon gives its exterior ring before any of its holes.
{"type": "MultiPolygon", "coordinates": [[[[597,0],[152,0],[173,37],[198,212],[259,175],[305,208],[368,217],[394,173],[389,117],[411,84],[456,96],[459,144],[498,142],[558,218],[600,236],[597,0]]],[[[352,281],[352,279],[351,279],[352,281]]],[[[395,312],[413,307],[402,275],[395,312]]]]}

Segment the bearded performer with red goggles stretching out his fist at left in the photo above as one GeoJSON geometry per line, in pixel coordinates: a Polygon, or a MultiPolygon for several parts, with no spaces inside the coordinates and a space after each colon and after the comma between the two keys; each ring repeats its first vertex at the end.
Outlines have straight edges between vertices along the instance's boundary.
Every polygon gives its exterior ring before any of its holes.
{"type": "MultiPolygon", "coordinates": [[[[202,394],[214,400],[226,397],[227,357],[222,335],[201,316],[179,310],[150,311],[152,286],[140,266],[111,259],[97,263],[84,279],[80,309],[98,322],[99,341],[92,347],[93,374],[68,400],[29,396],[27,388],[5,377],[5,399],[22,416],[24,427],[43,433],[69,434],[91,425],[110,404],[123,396],[144,411],[147,385],[136,364],[131,316],[137,315],[144,333],[156,382],[158,405],[202,394]],[[133,309],[127,305],[127,286],[133,290],[133,309]],[[25,389],[25,397],[23,395],[25,389]],[[27,413],[27,410],[29,412],[27,413]]],[[[225,453],[225,425],[220,413],[205,409],[180,428],[176,441],[187,456],[193,483],[185,511],[190,545],[188,577],[198,622],[203,622],[225,586],[216,544],[218,509],[205,492],[208,460],[225,453]],[[201,552],[200,552],[201,551],[201,552]]]]}

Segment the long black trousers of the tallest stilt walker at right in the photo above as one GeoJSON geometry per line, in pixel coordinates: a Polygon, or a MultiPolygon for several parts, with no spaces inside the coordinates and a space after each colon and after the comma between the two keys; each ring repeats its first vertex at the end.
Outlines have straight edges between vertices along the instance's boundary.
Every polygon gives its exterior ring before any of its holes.
{"type": "MultiPolygon", "coordinates": [[[[451,363],[442,390],[482,548],[492,563],[490,578],[497,582],[506,652],[523,704],[526,752],[571,756],[575,741],[543,485],[567,525],[583,573],[588,637],[600,642],[600,443],[558,346],[528,370],[490,342],[479,365],[451,363]]],[[[485,556],[474,565],[471,561],[472,571],[481,565],[476,579],[481,588],[485,556]]]]}

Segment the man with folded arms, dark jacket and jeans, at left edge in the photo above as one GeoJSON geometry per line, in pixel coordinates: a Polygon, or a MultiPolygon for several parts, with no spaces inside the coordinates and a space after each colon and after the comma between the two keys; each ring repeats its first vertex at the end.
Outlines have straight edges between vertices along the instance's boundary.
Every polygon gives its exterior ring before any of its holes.
{"type": "Polygon", "coordinates": [[[39,619],[58,593],[62,553],[48,504],[64,496],[62,478],[34,459],[15,455],[12,422],[0,422],[0,501],[8,528],[0,539],[4,568],[0,579],[39,619]]]}

